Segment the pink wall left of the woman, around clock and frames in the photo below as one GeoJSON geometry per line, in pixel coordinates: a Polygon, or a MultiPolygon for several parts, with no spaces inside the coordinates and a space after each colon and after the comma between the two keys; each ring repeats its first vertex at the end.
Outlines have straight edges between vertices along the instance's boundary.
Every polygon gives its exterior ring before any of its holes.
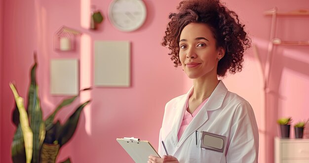
{"type": "MultiPolygon", "coordinates": [[[[5,108],[1,114],[3,122],[1,130],[5,131],[2,135],[1,163],[10,162],[10,144],[14,134],[11,117],[2,116],[10,115],[14,106],[8,82],[16,81],[20,94],[26,96],[29,84],[28,73],[33,62],[34,50],[38,52],[39,95],[45,117],[62,99],[49,94],[49,74],[46,72],[49,71],[50,59],[84,58],[80,60],[80,64],[85,69],[91,70],[87,72],[90,76],[85,78],[91,80],[90,86],[93,86],[92,65],[89,68],[88,63],[85,63],[85,60],[92,60],[92,47],[88,52],[81,50],[87,47],[80,47],[75,53],[53,51],[53,35],[63,25],[83,33],[77,44],[81,44],[82,39],[87,37],[90,37],[91,45],[95,40],[131,41],[132,86],[130,88],[94,87],[90,97],[84,97],[91,98],[92,103],[81,115],[77,133],[71,142],[62,148],[59,160],[70,156],[74,163],[128,162],[130,158],[116,142],[117,137],[135,136],[148,139],[154,147],[157,147],[165,102],[184,92],[182,71],[173,68],[169,56],[164,55],[167,50],[159,46],[167,12],[159,12],[158,8],[163,6],[164,2],[146,1],[149,14],[145,25],[136,32],[123,33],[109,23],[107,10],[110,1],[93,0],[91,2],[97,5],[105,16],[99,31],[89,31],[81,27],[81,4],[76,3],[75,0],[31,0],[27,3],[17,0],[4,1],[4,12],[7,17],[4,19],[6,25],[3,26],[5,40],[3,46],[6,47],[4,53],[10,55],[3,56],[5,61],[3,67],[10,71],[3,72],[1,86],[5,92],[3,94],[8,94],[2,98],[3,101],[8,102],[1,104],[1,108],[5,108]],[[13,21],[20,15],[25,19],[13,21]],[[173,80],[166,80],[170,78],[173,80]],[[117,157],[116,153],[120,156],[117,157]]],[[[170,11],[174,6],[175,4],[164,10],[170,11]]],[[[87,8],[90,5],[83,7],[87,8]]],[[[89,13],[86,14],[90,16],[89,13]]],[[[87,80],[85,78],[81,78],[81,81],[87,80]]],[[[84,86],[81,85],[81,87],[84,86]]],[[[63,121],[72,109],[72,107],[64,109],[58,118],[63,121]]]]}

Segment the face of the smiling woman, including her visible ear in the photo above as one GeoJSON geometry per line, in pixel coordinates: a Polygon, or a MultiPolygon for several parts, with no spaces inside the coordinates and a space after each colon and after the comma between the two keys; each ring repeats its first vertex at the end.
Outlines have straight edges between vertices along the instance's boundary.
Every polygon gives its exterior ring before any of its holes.
{"type": "Polygon", "coordinates": [[[216,48],[210,28],[202,23],[188,24],[180,34],[179,58],[190,79],[217,77],[218,58],[223,48],[216,48]]]}

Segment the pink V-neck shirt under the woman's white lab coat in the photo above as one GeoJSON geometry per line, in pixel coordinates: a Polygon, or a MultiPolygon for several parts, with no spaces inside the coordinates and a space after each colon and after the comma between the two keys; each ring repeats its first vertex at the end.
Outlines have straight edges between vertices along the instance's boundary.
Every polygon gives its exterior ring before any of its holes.
{"type": "MultiPolygon", "coordinates": [[[[204,106],[204,104],[208,101],[208,98],[205,99],[193,112],[193,114],[191,115],[187,109],[184,115],[184,119],[181,122],[179,131],[178,131],[178,141],[180,140],[181,136],[183,135],[183,133],[185,132],[186,128],[188,127],[189,123],[193,120],[193,118],[196,116],[196,114],[198,113],[198,111],[204,106]]],[[[189,99],[187,100],[187,107],[189,106],[189,99]]]]}

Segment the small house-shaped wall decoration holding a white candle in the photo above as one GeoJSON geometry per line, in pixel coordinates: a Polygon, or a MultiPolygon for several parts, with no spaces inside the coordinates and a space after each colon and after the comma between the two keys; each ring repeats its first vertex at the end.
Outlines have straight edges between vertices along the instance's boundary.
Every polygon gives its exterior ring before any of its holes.
{"type": "Polygon", "coordinates": [[[80,32],[68,28],[61,27],[54,38],[54,49],[56,51],[75,51],[76,37],[80,35],[80,32]]]}

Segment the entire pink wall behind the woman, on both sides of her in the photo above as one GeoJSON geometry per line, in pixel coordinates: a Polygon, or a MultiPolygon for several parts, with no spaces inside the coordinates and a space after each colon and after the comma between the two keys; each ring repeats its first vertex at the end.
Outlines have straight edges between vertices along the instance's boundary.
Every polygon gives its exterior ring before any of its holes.
{"type": "MultiPolygon", "coordinates": [[[[135,32],[116,30],[108,20],[112,0],[1,0],[0,1],[0,163],[10,163],[10,146],[15,128],[11,122],[14,107],[8,82],[15,81],[26,97],[33,52],[38,53],[38,82],[43,116],[46,118],[63,99],[49,93],[49,62],[55,58],[78,58],[80,88],[92,86],[57,119],[68,118],[78,103],[92,99],[80,117],[76,134],[60,151],[58,161],[70,156],[73,163],[133,162],[116,142],[117,137],[135,136],[158,144],[164,105],[185,93],[192,82],[174,68],[160,46],[167,15],[175,11],[179,0],[144,0],[148,15],[135,32]],[[98,31],[90,31],[90,5],[96,5],[105,17],[98,31]],[[61,26],[81,32],[75,52],[55,52],[53,37],[61,26]],[[131,41],[131,87],[93,86],[93,41],[131,41]]],[[[309,9],[308,0],[224,0],[246,24],[252,42],[263,63],[270,40],[270,16],[263,12],[274,6],[279,11],[309,9]]],[[[277,37],[282,40],[309,39],[309,17],[278,18],[277,37]]],[[[259,163],[273,162],[273,137],[278,136],[276,120],[292,117],[293,124],[309,118],[309,47],[280,46],[274,51],[270,90],[264,106],[262,71],[253,48],[246,52],[241,73],[224,79],[230,91],[247,99],[254,108],[260,130],[259,163]]],[[[26,98],[27,99],[27,98],[26,98]]],[[[294,137],[294,129],[291,137],[294,137]]],[[[307,131],[307,136],[309,132],[307,131]]],[[[308,136],[309,137],[309,136],[308,136]]]]}

